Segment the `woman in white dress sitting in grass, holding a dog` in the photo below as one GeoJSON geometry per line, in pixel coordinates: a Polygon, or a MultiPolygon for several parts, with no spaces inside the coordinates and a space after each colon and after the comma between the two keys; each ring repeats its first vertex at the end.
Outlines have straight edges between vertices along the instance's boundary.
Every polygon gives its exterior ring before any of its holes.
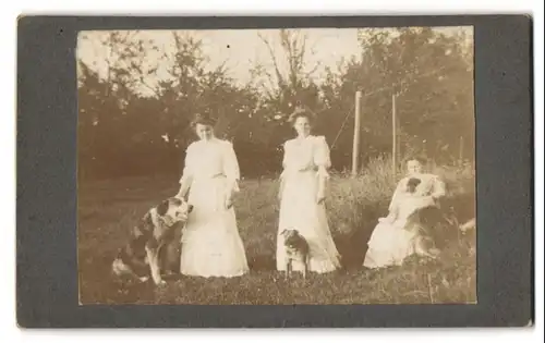
{"type": "Polygon", "coordinates": [[[415,253],[413,242],[416,234],[403,230],[407,219],[415,210],[438,206],[437,200],[446,193],[445,184],[437,175],[422,172],[423,162],[419,158],[408,160],[408,175],[398,183],[389,213],[378,220],[367,243],[364,267],[401,266],[415,253]]]}

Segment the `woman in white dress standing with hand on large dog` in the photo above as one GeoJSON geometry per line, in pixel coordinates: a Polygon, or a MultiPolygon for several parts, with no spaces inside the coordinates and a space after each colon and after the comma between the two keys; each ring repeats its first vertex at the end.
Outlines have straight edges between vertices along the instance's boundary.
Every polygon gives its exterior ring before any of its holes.
{"type": "Polygon", "coordinates": [[[214,136],[215,121],[196,115],[199,140],[186,150],[179,196],[193,205],[182,233],[180,271],[196,277],[240,277],[249,271],[232,197],[239,163],[232,144],[214,136]]]}

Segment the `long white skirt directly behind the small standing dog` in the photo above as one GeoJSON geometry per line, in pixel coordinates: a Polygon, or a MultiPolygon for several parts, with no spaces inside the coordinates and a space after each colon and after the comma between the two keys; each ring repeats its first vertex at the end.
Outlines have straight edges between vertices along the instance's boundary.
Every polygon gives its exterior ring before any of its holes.
{"type": "MultiPolygon", "coordinates": [[[[316,204],[317,185],[315,172],[290,173],[284,176],[277,235],[277,270],[286,270],[286,249],[280,235],[284,229],[298,230],[307,241],[310,271],[324,273],[340,267],[326,208],[324,204],[316,204]]],[[[293,270],[301,271],[303,268],[302,264],[293,264],[293,270]]]]}

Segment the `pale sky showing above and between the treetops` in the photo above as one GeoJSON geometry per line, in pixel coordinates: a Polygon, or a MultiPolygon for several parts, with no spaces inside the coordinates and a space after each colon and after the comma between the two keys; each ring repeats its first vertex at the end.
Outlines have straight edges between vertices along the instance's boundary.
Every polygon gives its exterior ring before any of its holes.
{"type": "MultiPolygon", "coordinates": [[[[472,27],[435,27],[434,29],[447,35],[460,29],[472,33],[472,27]]],[[[336,69],[342,59],[348,60],[360,52],[356,28],[306,28],[301,32],[307,35],[307,47],[313,52],[306,54],[305,62],[308,69],[319,63],[313,74],[318,83],[325,75],[326,66],[336,69]]],[[[251,79],[252,66],[262,64],[266,69],[272,68],[269,51],[259,35],[270,41],[277,60],[280,63],[284,61],[278,29],[216,29],[185,30],[185,33],[202,39],[203,52],[209,58],[207,64],[209,70],[226,63],[229,76],[241,85],[251,79]]],[[[83,35],[86,39],[78,39],[77,58],[105,76],[109,48],[101,44],[101,39],[108,35],[108,32],[84,32],[83,35]]],[[[150,40],[158,47],[158,51],[148,51],[147,59],[150,64],[157,64],[160,56],[173,51],[171,30],[142,30],[135,37],[150,40]]],[[[168,63],[158,64],[160,66],[157,72],[147,78],[148,85],[153,86],[157,81],[168,77],[168,63]]],[[[283,69],[286,65],[280,65],[280,68],[283,69]]]]}

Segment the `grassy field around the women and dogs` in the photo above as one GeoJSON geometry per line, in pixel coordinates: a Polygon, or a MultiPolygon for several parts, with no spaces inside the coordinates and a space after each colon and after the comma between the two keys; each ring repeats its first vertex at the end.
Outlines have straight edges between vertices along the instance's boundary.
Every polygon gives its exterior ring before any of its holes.
{"type": "MultiPolygon", "coordinates": [[[[251,272],[234,279],[177,277],[164,287],[120,282],[109,268],[132,225],[150,207],[177,193],[175,177],[125,179],[80,184],[78,269],[82,304],[455,304],[476,302],[475,235],[453,233],[440,258],[410,259],[402,267],[370,271],[366,242],[385,215],[395,184],[387,161],[359,177],[334,175],[327,203],[343,269],[284,281],[275,271],[277,183],[245,180],[235,199],[251,272]]],[[[449,185],[447,199],[460,221],[474,216],[474,174],[436,168],[449,185]]]]}

